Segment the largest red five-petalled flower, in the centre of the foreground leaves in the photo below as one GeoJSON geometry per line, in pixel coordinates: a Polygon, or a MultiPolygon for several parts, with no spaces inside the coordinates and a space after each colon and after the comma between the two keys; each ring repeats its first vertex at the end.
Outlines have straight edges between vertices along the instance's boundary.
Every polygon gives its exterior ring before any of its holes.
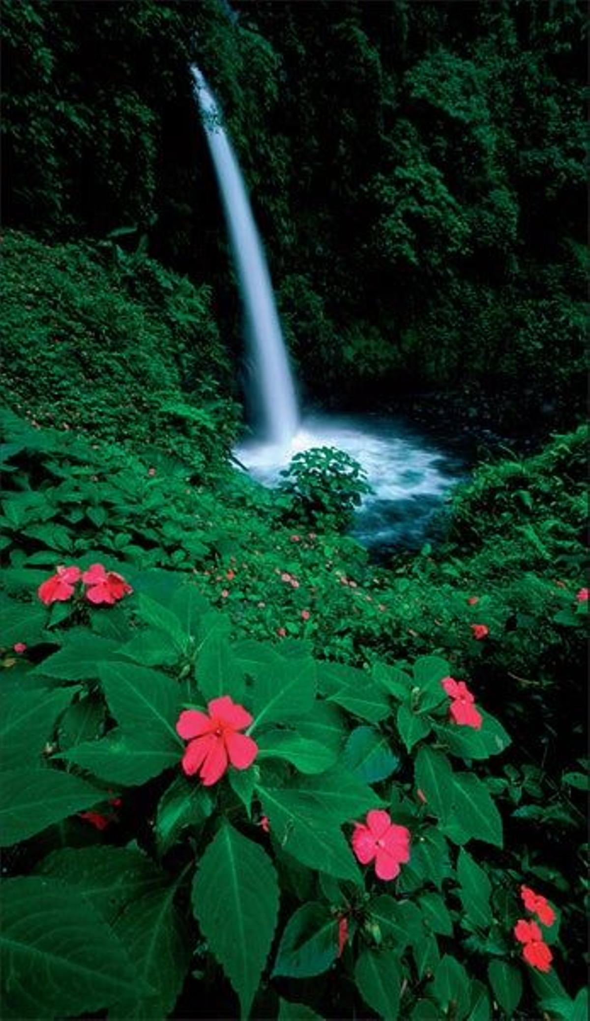
{"type": "Polygon", "coordinates": [[[209,715],[197,710],[185,710],[177,723],[177,732],[189,744],[183,757],[187,776],[199,773],[203,785],[210,787],[219,780],[228,765],[248,769],[258,752],[258,745],[238,731],[249,727],[252,717],[229,695],[213,698],[207,706],[209,715]]]}

